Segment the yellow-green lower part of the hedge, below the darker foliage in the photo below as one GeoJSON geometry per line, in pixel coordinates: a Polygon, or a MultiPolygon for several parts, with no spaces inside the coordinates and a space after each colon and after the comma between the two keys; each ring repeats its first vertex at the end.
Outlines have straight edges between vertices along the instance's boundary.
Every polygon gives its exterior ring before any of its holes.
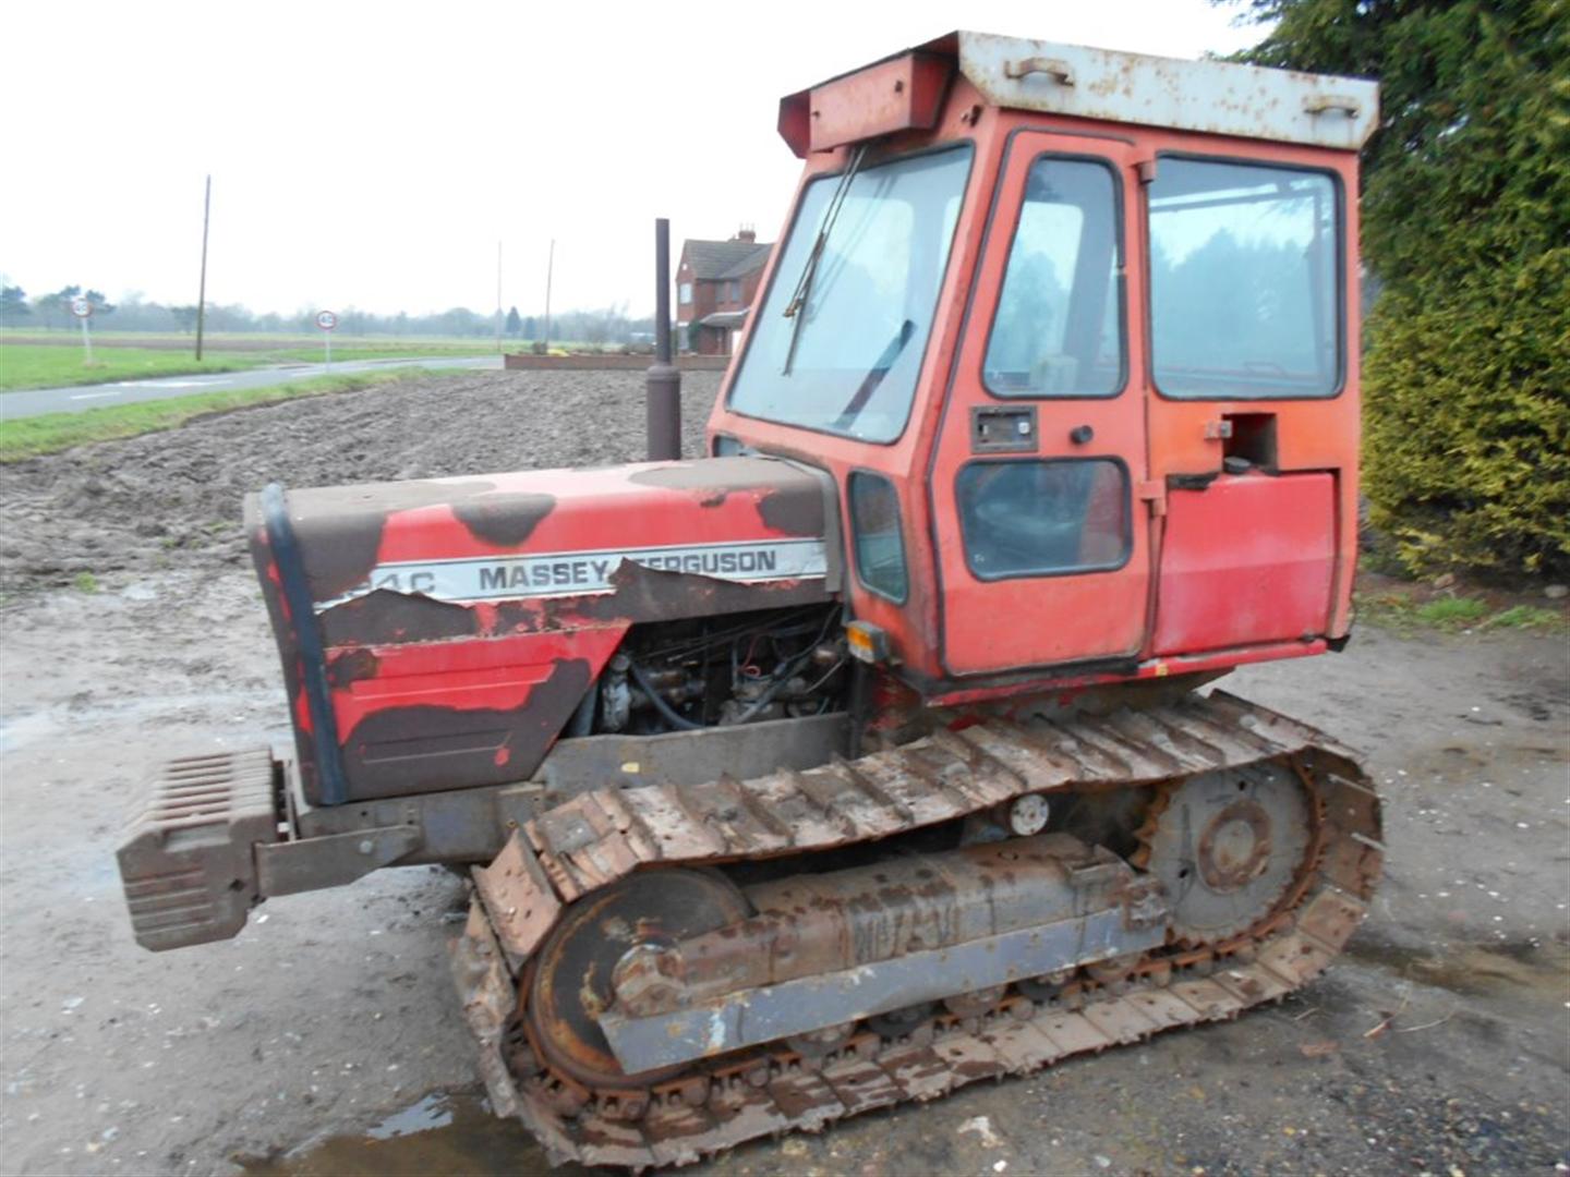
{"type": "Polygon", "coordinates": [[[1367,334],[1364,486],[1400,562],[1570,570],[1570,248],[1386,289],[1367,334]]]}

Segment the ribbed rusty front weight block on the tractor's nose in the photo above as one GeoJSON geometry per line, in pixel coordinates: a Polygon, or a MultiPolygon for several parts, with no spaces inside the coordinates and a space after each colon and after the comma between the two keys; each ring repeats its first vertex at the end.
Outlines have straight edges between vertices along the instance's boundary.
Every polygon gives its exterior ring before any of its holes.
{"type": "Polygon", "coordinates": [[[163,951],[236,935],[261,898],[251,847],[278,836],[268,749],[165,764],[116,851],[137,943],[163,951]]]}

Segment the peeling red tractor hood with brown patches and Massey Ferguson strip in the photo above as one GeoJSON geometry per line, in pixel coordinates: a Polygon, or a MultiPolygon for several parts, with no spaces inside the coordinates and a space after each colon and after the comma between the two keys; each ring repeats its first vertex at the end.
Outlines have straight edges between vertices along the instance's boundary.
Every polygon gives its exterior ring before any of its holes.
{"type": "Polygon", "coordinates": [[[831,599],[837,521],[760,457],[250,496],[308,799],[526,778],[631,625],[831,599]]]}

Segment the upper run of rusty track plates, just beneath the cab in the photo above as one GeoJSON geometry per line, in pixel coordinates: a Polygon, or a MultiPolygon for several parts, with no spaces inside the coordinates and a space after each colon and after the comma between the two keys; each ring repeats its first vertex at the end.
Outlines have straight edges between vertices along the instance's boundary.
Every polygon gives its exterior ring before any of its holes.
{"type": "Polygon", "coordinates": [[[735,782],[738,814],[769,814],[772,825],[692,821],[703,786],[597,789],[529,822],[528,836],[571,899],[642,865],[826,851],[1031,793],[1154,785],[1309,745],[1350,760],[1313,728],[1214,692],[1138,714],[939,730],[854,764],[735,782]]]}

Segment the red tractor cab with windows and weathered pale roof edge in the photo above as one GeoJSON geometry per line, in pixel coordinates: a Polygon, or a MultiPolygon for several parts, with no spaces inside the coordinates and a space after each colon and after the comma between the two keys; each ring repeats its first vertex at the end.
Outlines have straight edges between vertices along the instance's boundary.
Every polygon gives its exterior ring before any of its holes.
{"type": "Polygon", "coordinates": [[[783,99],[805,173],[713,452],[835,479],[853,609],[929,697],[1339,645],[1375,105],[978,33],[783,99]]]}

